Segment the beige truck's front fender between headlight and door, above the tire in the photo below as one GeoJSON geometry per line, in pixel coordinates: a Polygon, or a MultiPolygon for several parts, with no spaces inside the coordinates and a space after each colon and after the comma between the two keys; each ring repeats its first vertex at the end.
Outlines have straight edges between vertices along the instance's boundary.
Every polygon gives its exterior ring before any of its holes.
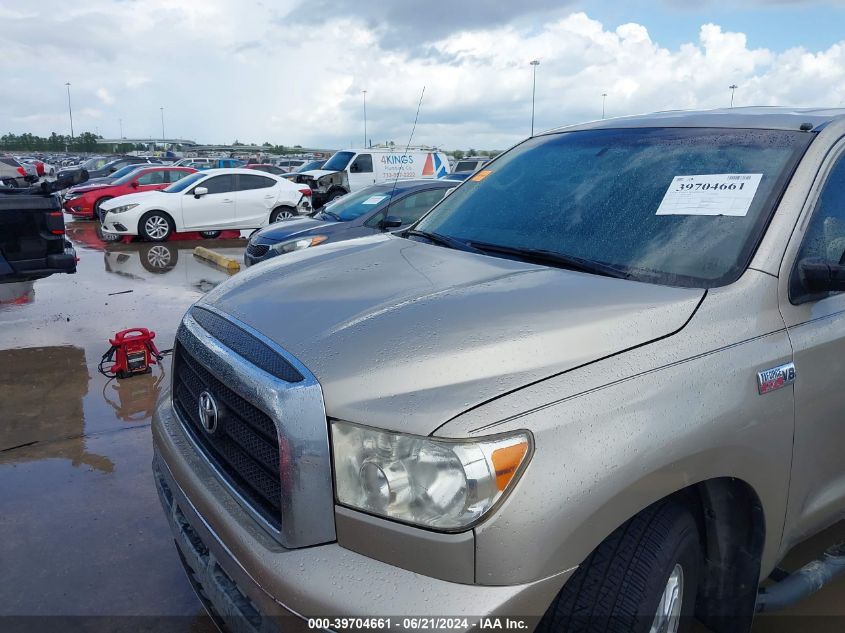
{"type": "MultiPolygon", "coordinates": [[[[645,346],[555,380],[573,388],[648,366],[655,353],[645,346]]],[[[723,477],[747,482],[762,502],[767,573],[779,554],[793,432],[791,387],[757,393],[755,368],[773,357],[791,357],[784,330],[629,374],[501,422],[479,426],[476,411],[475,428],[461,418],[441,428],[438,435],[450,437],[534,434],[522,479],[476,528],[477,582],[522,583],[569,569],[651,503],[723,477]]],[[[508,398],[524,397],[518,394],[487,406],[506,409],[508,398]]]]}

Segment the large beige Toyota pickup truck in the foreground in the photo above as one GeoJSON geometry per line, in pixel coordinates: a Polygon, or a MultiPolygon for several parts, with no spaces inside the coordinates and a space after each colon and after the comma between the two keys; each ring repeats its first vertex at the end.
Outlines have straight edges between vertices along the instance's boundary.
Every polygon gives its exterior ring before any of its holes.
{"type": "Polygon", "coordinates": [[[747,630],[832,575],[758,591],[845,513],[843,291],[845,110],[530,138],[189,310],[153,423],[182,560],[256,630],[747,630]]]}

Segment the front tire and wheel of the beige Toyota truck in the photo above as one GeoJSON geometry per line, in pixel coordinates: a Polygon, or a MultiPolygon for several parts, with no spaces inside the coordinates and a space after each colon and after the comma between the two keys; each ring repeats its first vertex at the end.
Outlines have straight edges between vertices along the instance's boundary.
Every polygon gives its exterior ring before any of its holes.
{"type": "Polygon", "coordinates": [[[593,550],[561,589],[537,631],[686,631],[692,624],[701,569],[695,518],[675,501],[659,501],[593,550]]]}

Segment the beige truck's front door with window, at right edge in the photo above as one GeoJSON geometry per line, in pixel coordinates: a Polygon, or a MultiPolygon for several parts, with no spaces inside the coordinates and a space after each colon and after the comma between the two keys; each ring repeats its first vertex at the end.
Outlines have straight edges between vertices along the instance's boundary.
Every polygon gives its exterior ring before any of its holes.
{"type": "MultiPolygon", "coordinates": [[[[845,144],[819,172],[779,275],[779,301],[795,362],[795,437],[786,533],[807,534],[845,504],[845,293],[812,293],[800,263],[845,263],[845,144]],[[812,196],[812,194],[811,194],[812,196]]],[[[790,543],[784,543],[788,547],[790,543]]]]}

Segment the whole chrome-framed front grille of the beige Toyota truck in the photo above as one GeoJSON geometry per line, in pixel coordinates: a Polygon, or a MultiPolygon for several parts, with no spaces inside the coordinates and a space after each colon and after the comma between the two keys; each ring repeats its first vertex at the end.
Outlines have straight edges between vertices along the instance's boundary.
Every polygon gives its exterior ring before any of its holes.
{"type": "Polygon", "coordinates": [[[187,439],[235,500],[283,547],[333,541],[328,420],[314,374],[247,323],[199,304],[179,326],[172,376],[187,439]]]}

